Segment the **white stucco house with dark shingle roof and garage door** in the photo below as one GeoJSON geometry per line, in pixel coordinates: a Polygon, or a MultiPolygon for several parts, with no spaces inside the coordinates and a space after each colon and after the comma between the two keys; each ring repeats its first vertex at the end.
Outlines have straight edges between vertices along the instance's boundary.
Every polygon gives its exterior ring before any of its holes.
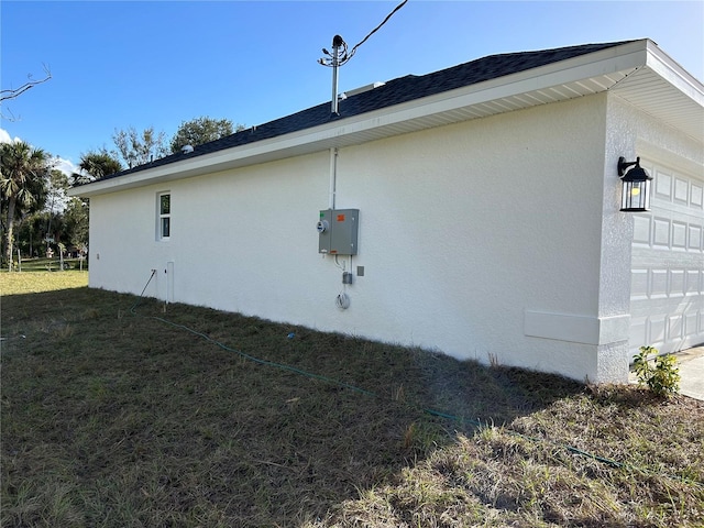
{"type": "Polygon", "coordinates": [[[704,342],[704,86],[652,41],[332,108],[73,189],[90,287],[596,383],[704,342]],[[620,210],[620,157],[653,177],[649,211],[620,210]]]}

